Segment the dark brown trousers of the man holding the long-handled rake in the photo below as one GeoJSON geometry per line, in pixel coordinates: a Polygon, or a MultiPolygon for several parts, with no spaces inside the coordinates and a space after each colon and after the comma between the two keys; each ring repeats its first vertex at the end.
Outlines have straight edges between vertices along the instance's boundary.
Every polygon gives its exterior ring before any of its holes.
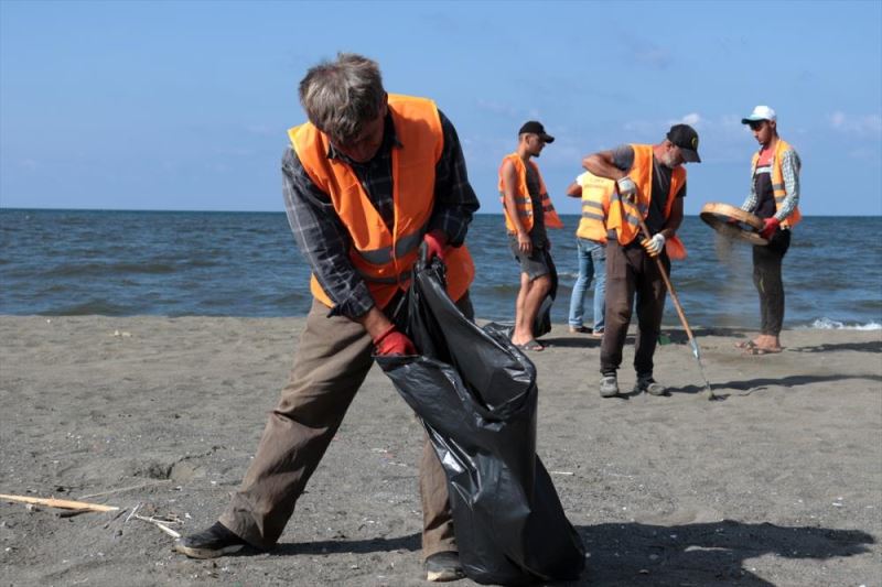
{"type": "MultiPolygon", "coordinates": [[[[665,270],[670,261],[662,253],[665,270]]],[[[622,363],[627,327],[637,297],[637,338],[634,345],[634,370],[637,377],[653,374],[653,355],[665,313],[665,281],[655,259],[636,241],[622,247],[611,240],[606,244],[606,329],[600,347],[600,371],[615,374],[622,363]]]]}

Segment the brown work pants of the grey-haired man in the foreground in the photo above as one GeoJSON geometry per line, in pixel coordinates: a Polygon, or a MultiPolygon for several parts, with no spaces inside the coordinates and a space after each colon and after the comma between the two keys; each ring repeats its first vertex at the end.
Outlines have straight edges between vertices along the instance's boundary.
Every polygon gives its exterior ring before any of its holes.
{"type": "MultiPolygon", "coordinates": [[[[467,293],[456,305],[472,318],[467,293]]],[[[372,350],[370,336],[361,324],[327,317],[327,307],[313,302],[288,385],[270,413],[241,487],[220,517],[222,524],[255,546],[276,544],[370,370],[372,350]]],[[[456,551],[447,478],[428,437],[419,481],[423,557],[456,551]]]]}

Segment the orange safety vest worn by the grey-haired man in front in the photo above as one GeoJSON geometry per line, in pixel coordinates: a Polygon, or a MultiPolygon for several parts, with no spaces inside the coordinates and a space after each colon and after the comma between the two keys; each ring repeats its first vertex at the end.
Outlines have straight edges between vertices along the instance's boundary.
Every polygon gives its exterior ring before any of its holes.
{"type": "MultiPolygon", "coordinates": [[[[419,247],[434,206],[434,172],[444,144],[441,119],[432,100],[390,94],[395,130],[402,148],[392,148],[395,226],[389,231],[348,164],[329,159],[327,135],[306,122],[288,131],[300,163],[313,183],[331,197],[334,210],[352,239],[349,260],[367,283],[378,307],[385,307],[399,289],[407,290],[419,247]]],[[[465,294],[474,278],[474,263],[465,246],[448,249],[448,294],[465,294]]],[[[329,307],[334,302],[315,274],[310,290],[329,307]]]]}

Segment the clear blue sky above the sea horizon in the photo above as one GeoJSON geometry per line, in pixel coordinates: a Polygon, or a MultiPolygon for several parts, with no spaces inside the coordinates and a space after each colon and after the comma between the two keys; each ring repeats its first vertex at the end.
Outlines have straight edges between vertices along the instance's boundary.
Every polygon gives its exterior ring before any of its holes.
{"type": "Polygon", "coordinates": [[[337,51],[428,96],[482,211],[517,129],[559,209],[584,154],[692,123],[687,214],[741,204],[778,112],[809,215],[882,215],[882,2],[41,2],[0,0],[0,206],[281,210],[297,85],[337,51]]]}

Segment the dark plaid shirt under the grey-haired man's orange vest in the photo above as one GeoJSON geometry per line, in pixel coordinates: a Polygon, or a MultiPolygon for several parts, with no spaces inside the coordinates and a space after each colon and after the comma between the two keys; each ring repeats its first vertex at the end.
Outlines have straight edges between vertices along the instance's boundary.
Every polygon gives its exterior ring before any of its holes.
{"type": "MultiPolygon", "coordinates": [[[[441,111],[438,115],[444,146],[435,164],[434,209],[428,230],[442,230],[448,235],[448,243],[459,247],[465,240],[472,215],[480,204],[469,183],[456,130],[441,111]]],[[[395,224],[391,154],[392,149],[402,146],[406,145],[398,140],[392,117],[387,115],[383,143],[370,161],[356,163],[333,145],[327,153],[330,159],[337,159],[352,167],[389,228],[395,224]]],[[[341,314],[349,318],[364,315],[375,304],[367,284],[349,261],[352,239],[348,230],[337,216],[331,197],[310,178],[291,146],[282,155],[282,194],[294,240],[319,284],[335,304],[329,315],[341,314]]]]}

